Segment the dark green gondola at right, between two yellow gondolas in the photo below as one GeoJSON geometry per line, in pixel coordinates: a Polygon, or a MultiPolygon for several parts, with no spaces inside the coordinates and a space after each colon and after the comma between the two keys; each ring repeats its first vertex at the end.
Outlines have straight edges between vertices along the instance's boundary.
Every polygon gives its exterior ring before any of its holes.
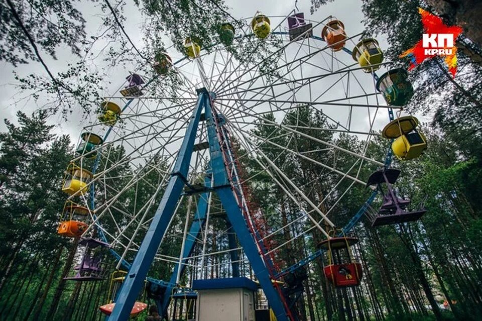
{"type": "Polygon", "coordinates": [[[377,90],[383,93],[390,106],[403,106],[413,96],[412,83],[407,79],[408,72],[402,68],[391,69],[377,81],[377,90]]]}

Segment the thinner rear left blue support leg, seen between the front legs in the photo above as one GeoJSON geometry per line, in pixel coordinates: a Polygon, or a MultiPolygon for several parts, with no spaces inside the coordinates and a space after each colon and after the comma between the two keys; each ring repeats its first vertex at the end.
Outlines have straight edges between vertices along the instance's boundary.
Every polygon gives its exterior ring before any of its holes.
{"type": "MultiPolygon", "coordinates": [[[[212,174],[210,173],[210,170],[208,170],[208,173],[209,174],[206,175],[206,177],[204,178],[204,186],[206,186],[207,188],[210,188],[212,174]]],[[[194,221],[191,224],[191,228],[189,229],[189,233],[187,234],[187,237],[186,237],[186,243],[184,244],[184,251],[182,253],[183,258],[191,256],[192,251],[194,250],[194,245],[196,244],[196,239],[201,233],[202,227],[206,222],[207,203],[209,200],[209,194],[210,192],[202,193],[201,196],[199,197],[199,200],[197,202],[197,210],[194,215],[194,221]]],[[[183,260],[183,263],[184,262],[185,260],[183,260]]],[[[177,272],[179,268],[181,268],[180,275],[182,275],[186,266],[181,264],[181,267],[179,267],[179,264],[176,264],[176,266],[174,267],[174,270],[172,271],[172,274],[171,274],[171,279],[169,280],[170,284],[166,287],[166,291],[164,292],[161,309],[159,310],[160,315],[164,315],[167,311],[169,302],[171,301],[171,292],[176,285],[177,272]]]]}

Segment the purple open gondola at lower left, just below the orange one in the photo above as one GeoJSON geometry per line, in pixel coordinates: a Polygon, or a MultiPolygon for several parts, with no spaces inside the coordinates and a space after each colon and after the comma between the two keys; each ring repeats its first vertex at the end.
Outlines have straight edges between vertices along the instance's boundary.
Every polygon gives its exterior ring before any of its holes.
{"type": "Polygon", "coordinates": [[[84,248],[82,258],[73,269],[74,275],[64,280],[72,281],[100,281],[104,280],[105,269],[102,260],[107,254],[109,245],[93,238],[81,238],[79,245],[84,248]]]}

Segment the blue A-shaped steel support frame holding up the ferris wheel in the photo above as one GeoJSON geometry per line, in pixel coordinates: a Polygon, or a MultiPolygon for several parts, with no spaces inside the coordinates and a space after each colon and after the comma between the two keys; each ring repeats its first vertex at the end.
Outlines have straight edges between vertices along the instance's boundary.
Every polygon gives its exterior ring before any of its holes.
{"type": "MultiPolygon", "coordinates": [[[[154,215],[151,226],[149,227],[149,230],[139,248],[134,262],[130,266],[129,273],[121,289],[119,290],[114,309],[110,316],[106,318],[109,321],[124,321],[130,316],[132,306],[134,305],[137,295],[144,284],[144,280],[147,276],[152,261],[154,260],[154,256],[156,255],[159,242],[166,233],[169,222],[174,215],[174,208],[179,200],[182,188],[187,181],[186,177],[188,174],[189,163],[191,161],[194,140],[203,107],[205,109],[206,121],[208,123],[209,152],[211,155],[212,175],[214,178],[213,187],[224,206],[227,218],[231,224],[231,228],[236,233],[239,243],[243,246],[277,319],[279,321],[288,321],[281,298],[273,286],[268,269],[263,263],[255,240],[253,239],[243,214],[234,198],[231,185],[229,184],[226,168],[224,166],[219,140],[216,135],[216,125],[212,116],[209,93],[205,89],[198,90],[197,105],[186,130],[186,136],[182,142],[179,155],[176,159],[173,173],[171,174],[171,178],[169,179],[166,191],[164,192],[159,207],[154,215]]],[[[207,197],[203,198],[207,200],[207,197]]],[[[204,203],[201,203],[201,206],[198,206],[198,212],[196,212],[196,215],[198,215],[199,220],[193,222],[191,231],[199,232],[202,228],[204,223],[202,217],[205,218],[206,215],[206,209],[204,209],[204,207],[207,208],[207,201],[205,202],[205,205],[204,203]]],[[[186,239],[186,242],[188,243],[186,243],[183,253],[185,257],[189,256],[188,252],[192,251],[194,241],[195,238],[192,236],[186,239]]],[[[229,240],[229,243],[230,247],[235,246],[234,236],[229,240]]],[[[231,255],[231,260],[236,258],[236,256],[231,255]]],[[[177,275],[178,268],[182,269],[182,266],[177,266],[171,276],[171,282],[165,282],[166,284],[164,284],[166,287],[165,294],[167,295],[164,296],[164,300],[161,305],[163,310],[165,310],[165,307],[167,308],[169,304],[170,295],[168,293],[168,289],[170,288],[172,291],[173,287],[175,286],[173,284],[175,279],[173,280],[173,278],[177,275]]],[[[233,265],[233,273],[239,273],[237,265],[233,265]],[[236,269],[237,272],[235,272],[234,269],[236,269]]],[[[157,303],[158,305],[161,304],[161,302],[157,303]]]]}

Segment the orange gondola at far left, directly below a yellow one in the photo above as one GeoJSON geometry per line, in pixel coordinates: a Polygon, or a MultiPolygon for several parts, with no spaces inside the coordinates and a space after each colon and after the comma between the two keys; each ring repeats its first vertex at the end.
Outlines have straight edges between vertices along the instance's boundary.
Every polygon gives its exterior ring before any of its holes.
{"type": "Polygon", "coordinates": [[[68,200],[62,211],[62,219],[57,229],[57,234],[69,238],[78,238],[87,229],[88,225],[86,222],[88,220],[89,209],[68,200]]]}

